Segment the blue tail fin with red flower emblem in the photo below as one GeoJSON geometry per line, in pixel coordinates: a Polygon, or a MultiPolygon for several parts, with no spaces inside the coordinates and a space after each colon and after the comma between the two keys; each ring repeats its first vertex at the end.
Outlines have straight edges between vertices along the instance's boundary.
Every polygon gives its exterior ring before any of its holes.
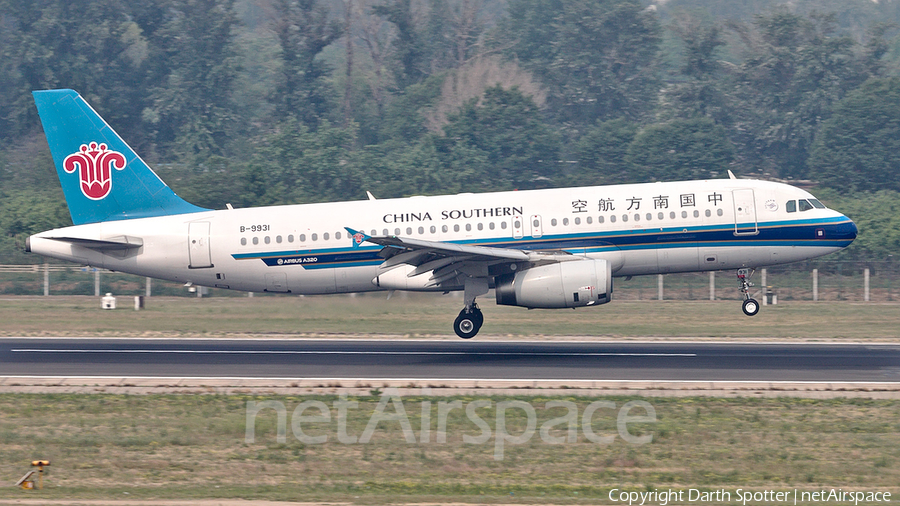
{"type": "Polygon", "coordinates": [[[185,202],[75,91],[35,91],[76,225],[205,211],[185,202]]]}

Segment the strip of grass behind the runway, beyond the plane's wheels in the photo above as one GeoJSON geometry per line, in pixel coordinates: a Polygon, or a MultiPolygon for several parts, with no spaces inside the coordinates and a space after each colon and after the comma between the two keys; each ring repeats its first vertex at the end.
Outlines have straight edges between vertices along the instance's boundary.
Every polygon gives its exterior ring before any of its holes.
{"type": "MultiPolygon", "coordinates": [[[[896,340],[900,304],[789,301],[745,317],[738,301],[616,301],[578,310],[526,310],[479,300],[479,338],[522,336],[707,337],[896,340]]],[[[180,298],[152,297],[134,311],[131,298],[103,311],[94,297],[0,299],[3,336],[391,335],[456,339],[462,298],[383,294],[180,298]]]]}

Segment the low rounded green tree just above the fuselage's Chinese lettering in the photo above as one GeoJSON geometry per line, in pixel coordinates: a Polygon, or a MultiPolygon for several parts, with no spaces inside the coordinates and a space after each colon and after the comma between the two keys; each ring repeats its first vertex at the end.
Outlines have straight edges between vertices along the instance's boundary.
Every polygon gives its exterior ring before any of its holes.
{"type": "Polygon", "coordinates": [[[720,177],[734,160],[725,129],[709,118],[652,125],[628,146],[631,182],[720,177]]]}

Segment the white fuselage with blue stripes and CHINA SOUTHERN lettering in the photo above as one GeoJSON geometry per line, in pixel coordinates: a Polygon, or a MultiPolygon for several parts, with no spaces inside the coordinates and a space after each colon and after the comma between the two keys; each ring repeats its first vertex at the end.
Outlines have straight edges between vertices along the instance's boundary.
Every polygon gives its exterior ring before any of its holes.
{"type": "Polygon", "coordinates": [[[350,227],[371,236],[565,251],[608,260],[614,276],[635,276],[795,262],[852,242],[855,225],[836,211],[788,212],[790,201],[804,199],[814,197],[785,184],[726,179],[363,200],[73,226],[32,236],[30,249],[236,290],[416,289],[378,286],[382,247],[352,247],[350,227]],[[122,236],[141,246],[105,250],[61,240],[122,236]]]}

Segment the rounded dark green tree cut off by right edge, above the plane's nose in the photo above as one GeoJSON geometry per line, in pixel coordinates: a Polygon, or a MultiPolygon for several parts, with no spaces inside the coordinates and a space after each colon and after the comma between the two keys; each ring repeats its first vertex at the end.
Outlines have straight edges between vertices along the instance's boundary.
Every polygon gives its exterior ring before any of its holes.
{"type": "Polygon", "coordinates": [[[810,177],[842,192],[900,191],[900,78],[876,78],[838,102],[822,124],[810,177]]]}

